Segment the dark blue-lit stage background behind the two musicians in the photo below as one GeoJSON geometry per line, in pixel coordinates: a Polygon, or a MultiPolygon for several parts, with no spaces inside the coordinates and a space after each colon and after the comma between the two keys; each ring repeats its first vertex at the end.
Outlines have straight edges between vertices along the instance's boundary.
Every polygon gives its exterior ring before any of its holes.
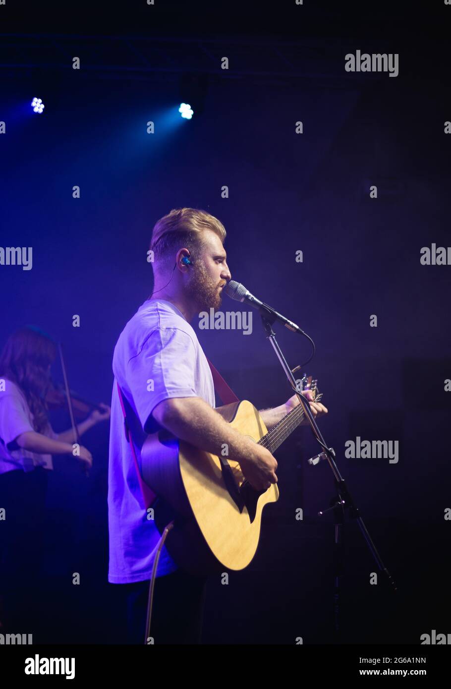
{"type": "MultiPolygon", "coordinates": [[[[306,464],[317,446],[298,429],[276,455],[280,500],[255,559],[229,586],[209,581],[205,643],[419,644],[451,632],[451,268],[419,262],[421,247],[450,244],[450,17],[439,2],[0,8],[1,245],[33,247],[32,270],[0,267],[0,344],[21,325],[43,328],[63,342],[71,387],[109,402],[116,339],[151,292],[154,223],[176,207],[211,212],[232,278],[315,340],[322,431],[398,585],[393,595],[379,574],[370,586],[377,568],[348,522],[334,636],[334,526],[317,516],[332,474],[306,464]],[[399,76],[345,72],[357,49],[398,53],[399,76]],[[177,112],[185,98],[191,121],[177,112]],[[399,440],[398,464],[344,458],[357,435],[399,440]]],[[[223,310],[240,308],[224,296],[223,310]]],[[[262,409],[289,397],[257,312],[249,336],[193,327],[241,399],[262,409]]],[[[308,343],[276,330],[289,364],[306,360],[308,343]]],[[[63,413],[52,422],[68,425],[63,413]]],[[[120,586],[107,583],[107,424],[84,444],[88,480],[54,460],[36,641],[123,640],[120,586]]]]}

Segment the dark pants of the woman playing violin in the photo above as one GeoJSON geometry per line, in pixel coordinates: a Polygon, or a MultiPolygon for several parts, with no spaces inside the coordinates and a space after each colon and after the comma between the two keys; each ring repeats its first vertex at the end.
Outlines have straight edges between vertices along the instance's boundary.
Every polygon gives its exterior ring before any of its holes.
{"type": "Polygon", "coordinates": [[[39,609],[48,469],[0,474],[0,621],[2,633],[33,633],[39,609]]]}

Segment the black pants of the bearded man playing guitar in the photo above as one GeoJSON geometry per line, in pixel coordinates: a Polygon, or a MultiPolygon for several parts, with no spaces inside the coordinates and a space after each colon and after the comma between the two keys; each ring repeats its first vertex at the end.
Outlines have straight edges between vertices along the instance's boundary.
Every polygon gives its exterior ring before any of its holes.
{"type": "MultiPolygon", "coordinates": [[[[157,577],[150,636],[154,644],[200,644],[207,577],[184,570],[157,577]]],[[[127,597],[127,641],[144,644],[149,581],[121,584],[127,597]]]]}

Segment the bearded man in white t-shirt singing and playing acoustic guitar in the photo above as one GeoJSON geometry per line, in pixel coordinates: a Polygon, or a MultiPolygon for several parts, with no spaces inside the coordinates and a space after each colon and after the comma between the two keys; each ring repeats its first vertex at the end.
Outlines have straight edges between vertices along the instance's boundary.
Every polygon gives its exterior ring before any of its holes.
{"type": "MultiPolygon", "coordinates": [[[[220,455],[227,443],[229,456],[240,463],[255,489],[268,489],[277,482],[277,462],[269,450],[233,429],[214,411],[211,370],[189,325],[200,311],[221,305],[222,288],[231,279],[225,236],[222,223],[198,209],[174,209],[158,220],[150,245],[154,291],[129,320],[114,349],[108,581],[125,588],[128,641],[132,644],[143,643],[149,579],[160,533],[143,504],[116,385],[123,394],[138,466],[145,434],[167,429],[176,438],[215,455],[220,455]]],[[[267,428],[296,404],[299,400],[293,395],[280,407],[260,411],[267,428]]],[[[311,409],[315,415],[327,411],[315,402],[311,409]]],[[[156,577],[151,617],[155,643],[200,643],[206,578],[179,568],[165,546],[156,577]]]]}

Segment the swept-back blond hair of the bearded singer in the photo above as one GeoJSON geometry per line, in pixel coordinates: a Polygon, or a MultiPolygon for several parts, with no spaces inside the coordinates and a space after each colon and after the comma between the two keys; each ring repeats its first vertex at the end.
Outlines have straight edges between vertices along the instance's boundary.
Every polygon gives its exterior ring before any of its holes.
{"type": "Polygon", "coordinates": [[[155,223],[150,249],[158,260],[175,253],[177,247],[196,251],[202,246],[205,229],[216,232],[224,244],[226,231],[218,218],[197,208],[174,208],[155,223]]]}

